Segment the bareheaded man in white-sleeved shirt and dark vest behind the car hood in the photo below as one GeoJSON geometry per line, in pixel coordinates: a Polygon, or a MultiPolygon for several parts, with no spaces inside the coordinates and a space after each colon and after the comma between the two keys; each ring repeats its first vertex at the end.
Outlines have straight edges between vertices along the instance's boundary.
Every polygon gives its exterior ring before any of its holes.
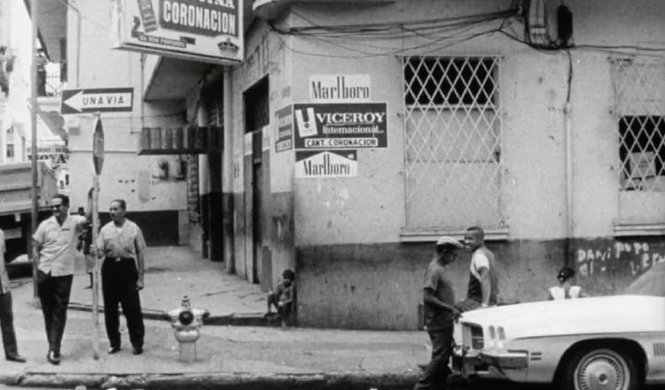
{"type": "Polygon", "coordinates": [[[487,308],[497,305],[498,277],[497,266],[492,253],[485,246],[485,232],[473,226],[465,232],[465,246],[472,250],[469,266],[469,285],[466,300],[458,303],[462,311],[474,308],[487,308]]]}

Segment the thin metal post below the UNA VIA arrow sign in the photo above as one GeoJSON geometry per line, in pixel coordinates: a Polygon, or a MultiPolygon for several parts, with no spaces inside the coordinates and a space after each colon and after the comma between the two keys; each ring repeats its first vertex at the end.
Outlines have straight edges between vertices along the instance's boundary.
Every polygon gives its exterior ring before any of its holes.
{"type": "MultiPolygon", "coordinates": [[[[92,244],[97,245],[99,231],[99,175],[104,165],[104,129],[102,129],[101,114],[97,113],[97,124],[92,136],[92,163],[95,165],[95,177],[92,183],[92,244]]],[[[92,341],[93,358],[99,359],[99,255],[95,251],[95,266],[92,269],[92,341]]]]}

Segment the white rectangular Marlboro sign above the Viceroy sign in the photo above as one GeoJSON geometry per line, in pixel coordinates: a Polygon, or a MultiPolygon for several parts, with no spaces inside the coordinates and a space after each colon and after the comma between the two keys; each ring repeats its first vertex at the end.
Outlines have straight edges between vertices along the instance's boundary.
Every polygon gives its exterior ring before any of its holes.
{"type": "Polygon", "coordinates": [[[309,100],[317,103],[370,102],[369,74],[312,74],[309,100]]]}

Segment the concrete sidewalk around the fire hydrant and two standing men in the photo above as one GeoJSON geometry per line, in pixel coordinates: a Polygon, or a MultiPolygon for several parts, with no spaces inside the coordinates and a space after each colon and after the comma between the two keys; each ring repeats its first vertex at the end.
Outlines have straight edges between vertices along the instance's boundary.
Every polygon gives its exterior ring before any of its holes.
{"type": "MultiPolygon", "coordinates": [[[[155,313],[177,308],[184,294],[211,316],[260,316],[258,285],[227,275],[222,264],[199,259],[184,247],[149,248],[143,307],[155,313]]],[[[88,277],[77,270],[74,306],[90,305],[88,277]]],[[[46,361],[41,311],[32,307],[29,279],[12,283],[14,321],[25,364],[2,361],[0,383],[89,388],[407,388],[418,363],[426,363],[425,332],[339,331],[206,325],[195,363],[177,361],[177,343],[165,321],[146,320],[145,353],[131,355],[127,332],[120,354],[107,355],[100,316],[99,360],[92,357],[90,312],[69,310],[62,363],[46,361]]],[[[124,319],[122,320],[124,323],[124,319]]],[[[122,325],[124,327],[124,325],[122,325]]]]}

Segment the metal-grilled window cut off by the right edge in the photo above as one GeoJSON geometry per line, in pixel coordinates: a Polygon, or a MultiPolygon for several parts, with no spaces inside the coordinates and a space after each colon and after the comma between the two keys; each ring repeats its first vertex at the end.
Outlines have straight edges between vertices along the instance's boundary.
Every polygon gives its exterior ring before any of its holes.
{"type": "Polygon", "coordinates": [[[665,221],[665,61],[614,58],[619,222],[665,221]]]}

